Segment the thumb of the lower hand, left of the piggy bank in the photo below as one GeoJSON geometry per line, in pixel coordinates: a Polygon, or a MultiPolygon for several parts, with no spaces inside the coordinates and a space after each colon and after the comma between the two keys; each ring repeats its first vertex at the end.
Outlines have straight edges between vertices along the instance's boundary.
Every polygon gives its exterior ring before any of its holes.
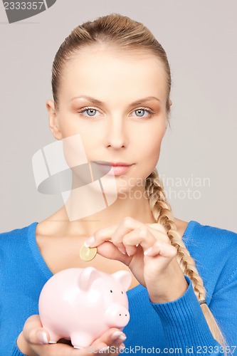
{"type": "Polygon", "coordinates": [[[48,331],[42,328],[41,319],[39,315],[32,315],[26,320],[23,328],[23,337],[26,342],[33,345],[48,344],[48,331]]]}

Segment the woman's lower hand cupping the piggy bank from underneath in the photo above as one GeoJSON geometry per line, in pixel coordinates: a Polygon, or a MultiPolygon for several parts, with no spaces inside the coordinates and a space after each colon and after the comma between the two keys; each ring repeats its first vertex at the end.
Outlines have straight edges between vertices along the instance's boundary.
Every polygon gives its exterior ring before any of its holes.
{"type": "Polygon", "coordinates": [[[65,343],[48,344],[47,330],[42,328],[39,316],[32,315],[26,320],[17,345],[19,350],[28,356],[89,356],[93,353],[119,355],[125,339],[124,333],[111,328],[85,349],[78,350],[65,343]]]}

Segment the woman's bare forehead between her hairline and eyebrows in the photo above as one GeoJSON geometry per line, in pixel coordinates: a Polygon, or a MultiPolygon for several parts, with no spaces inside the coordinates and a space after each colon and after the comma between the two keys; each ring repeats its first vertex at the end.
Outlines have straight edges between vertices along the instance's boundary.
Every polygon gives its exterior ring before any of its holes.
{"type": "Polygon", "coordinates": [[[125,100],[158,95],[167,99],[164,64],[149,51],[83,48],[63,69],[60,99],[90,95],[101,100],[125,100]]]}

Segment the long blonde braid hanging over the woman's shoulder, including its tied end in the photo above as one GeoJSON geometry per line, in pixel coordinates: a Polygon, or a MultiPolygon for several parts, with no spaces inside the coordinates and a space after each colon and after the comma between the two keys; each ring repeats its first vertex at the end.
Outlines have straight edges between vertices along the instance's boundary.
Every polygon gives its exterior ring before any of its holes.
{"type": "MultiPolygon", "coordinates": [[[[171,244],[177,248],[177,261],[185,276],[188,276],[191,279],[196,298],[199,301],[205,299],[206,290],[204,288],[204,283],[196,269],[194,258],[190,256],[184,241],[182,241],[182,238],[177,231],[172,209],[165,196],[164,187],[159,179],[157,169],[154,169],[149,177],[147,177],[146,191],[154,219],[157,221],[157,224],[162,224],[162,226],[164,226],[171,244]]],[[[218,328],[214,316],[211,314],[211,310],[206,304],[201,304],[201,310],[204,313],[204,317],[206,318],[206,322],[209,325],[212,335],[222,346],[225,346],[226,341],[221,330],[218,328]]]]}

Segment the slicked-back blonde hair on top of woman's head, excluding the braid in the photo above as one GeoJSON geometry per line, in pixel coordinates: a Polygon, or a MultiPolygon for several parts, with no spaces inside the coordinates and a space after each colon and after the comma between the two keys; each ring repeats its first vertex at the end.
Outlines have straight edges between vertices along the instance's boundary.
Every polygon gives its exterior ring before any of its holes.
{"type": "Polygon", "coordinates": [[[142,23],[132,21],[129,17],[119,14],[99,17],[95,21],[88,21],[77,26],[61,44],[52,68],[53,100],[57,108],[60,81],[63,78],[65,65],[73,56],[76,56],[80,49],[100,44],[125,51],[152,51],[157,55],[164,63],[167,80],[167,112],[169,112],[171,74],[164,48],[142,23]]]}

